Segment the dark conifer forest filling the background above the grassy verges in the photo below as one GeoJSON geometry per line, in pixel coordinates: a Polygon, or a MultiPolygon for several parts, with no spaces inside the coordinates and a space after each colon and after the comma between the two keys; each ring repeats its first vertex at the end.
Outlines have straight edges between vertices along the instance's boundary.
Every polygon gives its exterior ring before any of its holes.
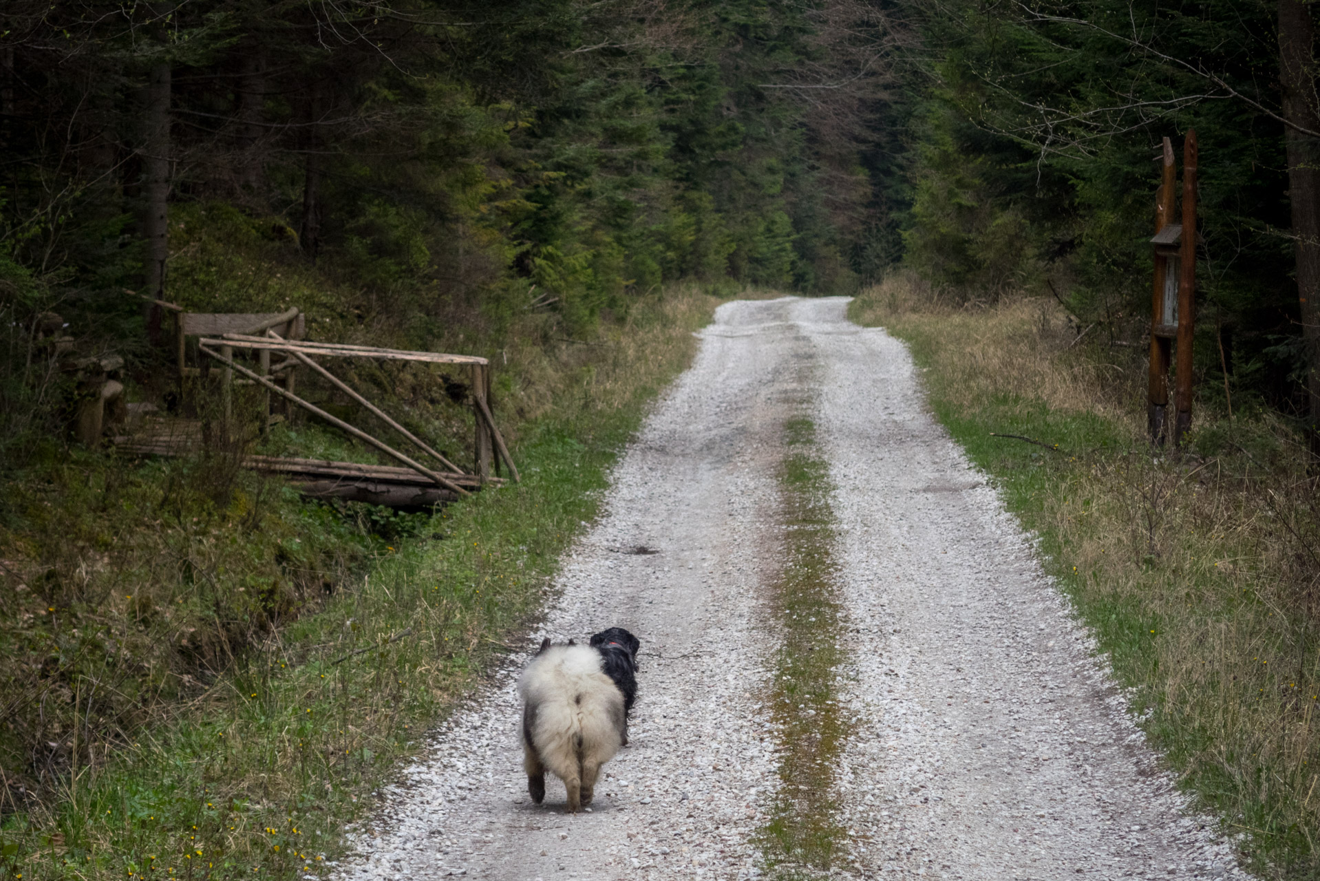
{"type": "MultiPolygon", "coordinates": [[[[144,296],[280,305],[201,256],[239,239],[354,289],[318,320],[414,342],[445,309],[498,325],[537,293],[572,334],[676,281],[849,293],[898,265],[966,301],[1052,293],[1133,342],[1160,139],[1180,155],[1196,129],[1197,370],[1299,425],[1315,408],[1305,4],[3,15],[11,366],[54,302],[143,366],[144,296]]],[[[3,391],[13,449],[33,388],[3,391]]]]}

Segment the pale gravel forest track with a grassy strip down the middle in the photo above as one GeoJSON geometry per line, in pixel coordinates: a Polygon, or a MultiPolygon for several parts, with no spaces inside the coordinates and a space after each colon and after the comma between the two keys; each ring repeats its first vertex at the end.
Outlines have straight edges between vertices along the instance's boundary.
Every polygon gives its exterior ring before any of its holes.
{"type": "Polygon", "coordinates": [[[566,815],[553,779],[528,799],[511,666],[383,793],[339,878],[1249,877],[1184,810],[907,350],[846,306],[722,306],[564,560],[544,634],[622,625],[643,643],[632,742],[591,812],[566,815]],[[766,833],[804,786],[781,779],[797,711],[775,703],[791,424],[828,465],[842,660],[825,703],[846,721],[816,759],[838,841],[796,872],[766,833]]]}

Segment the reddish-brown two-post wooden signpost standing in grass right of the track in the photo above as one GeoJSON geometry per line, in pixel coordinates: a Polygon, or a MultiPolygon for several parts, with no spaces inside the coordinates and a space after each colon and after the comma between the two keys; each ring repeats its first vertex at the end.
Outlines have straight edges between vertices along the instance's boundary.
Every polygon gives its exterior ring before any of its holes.
{"type": "Polygon", "coordinates": [[[1192,335],[1196,324],[1196,132],[1183,144],[1183,217],[1175,217],[1173,144],[1164,139],[1163,174],[1155,197],[1155,277],[1151,289],[1151,365],[1147,423],[1151,442],[1163,445],[1168,427],[1168,369],[1176,346],[1173,444],[1192,427],[1192,335]]]}

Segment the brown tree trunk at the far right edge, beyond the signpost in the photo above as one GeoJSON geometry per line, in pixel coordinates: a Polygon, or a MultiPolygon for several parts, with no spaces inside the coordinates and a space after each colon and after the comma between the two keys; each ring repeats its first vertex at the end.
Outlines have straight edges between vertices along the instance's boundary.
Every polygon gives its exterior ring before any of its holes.
{"type": "MultiPolygon", "coordinates": [[[[1300,0],[1279,0],[1279,83],[1283,116],[1309,131],[1320,129],[1316,99],[1315,26],[1300,0]]],[[[1286,129],[1288,202],[1298,260],[1298,300],[1305,342],[1311,453],[1320,456],[1320,149],[1316,139],[1286,129]]]]}

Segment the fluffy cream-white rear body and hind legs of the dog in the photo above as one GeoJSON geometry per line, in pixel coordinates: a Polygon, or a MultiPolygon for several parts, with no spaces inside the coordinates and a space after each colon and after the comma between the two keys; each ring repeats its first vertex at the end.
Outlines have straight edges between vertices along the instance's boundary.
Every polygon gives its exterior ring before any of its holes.
{"type": "Polygon", "coordinates": [[[517,691],[532,720],[525,725],[531,742],[523,737],[528,777],[549,770],[564,781],[570,811],[589,804],[597,774],[619,752],[624,730],[623,695],[602,672],[601,652],[550,646],[523,670],[517,691]]]}

